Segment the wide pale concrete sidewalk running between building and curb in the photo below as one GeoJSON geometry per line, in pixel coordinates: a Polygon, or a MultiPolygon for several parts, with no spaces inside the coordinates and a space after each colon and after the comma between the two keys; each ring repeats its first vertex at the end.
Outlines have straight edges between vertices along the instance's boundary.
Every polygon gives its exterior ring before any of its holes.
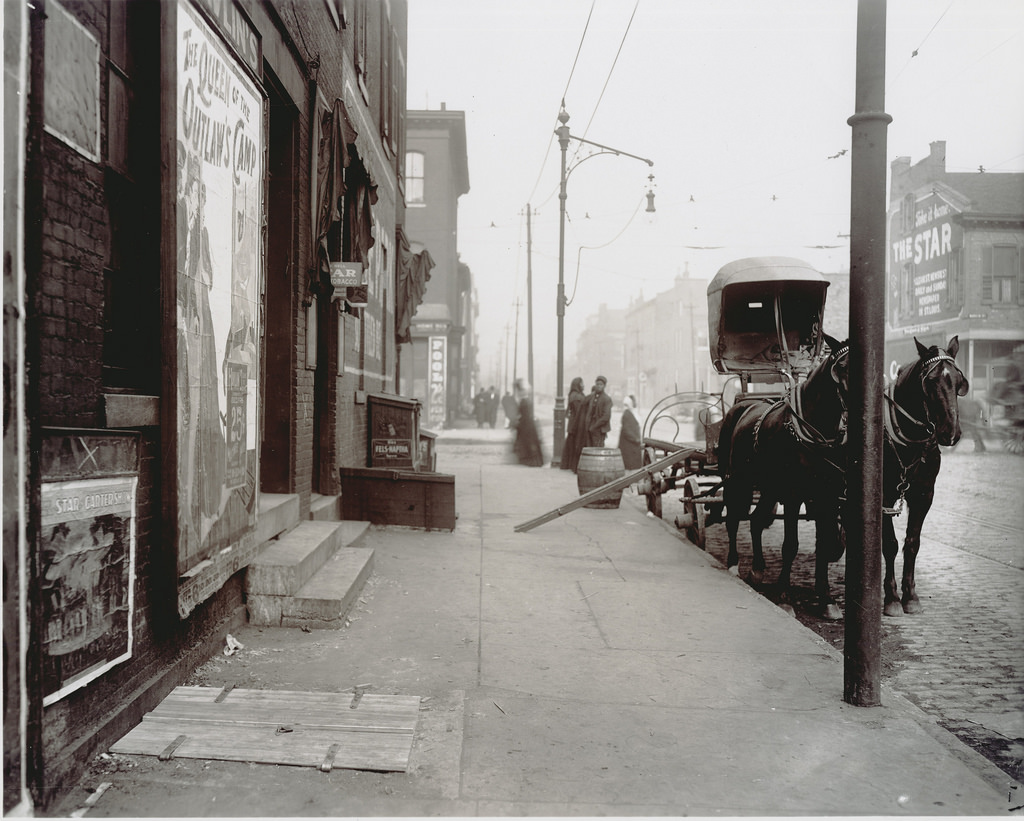
{"type": "Polygon", "coordinates": [[[846,704],[842,656],[642,499],[515,532],[571,501],[575,476],[506,464],[508,432],[482,433],[476,447],[438,440],[455,532],[369,531],[375,572],[346,629],[247,626],[243,652],[190,681],[421,696],[409,772],[114,757],[57,814],[100,781],[112,786],[88,817],[1005,815],[1024,803],[908,701],[846,704]]]}

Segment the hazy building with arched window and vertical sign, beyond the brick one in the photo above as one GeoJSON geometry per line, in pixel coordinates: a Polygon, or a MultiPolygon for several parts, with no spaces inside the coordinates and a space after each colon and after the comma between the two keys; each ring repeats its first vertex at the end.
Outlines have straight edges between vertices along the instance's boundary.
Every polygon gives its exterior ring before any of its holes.
{"type": "Polygon", "coordinates": [[[429,249],[423,304],[399,352],[399,390],[424,406],[423,424],[450,427],[471,408],[476,377],[473,276],[460,262],[459,198],[469,191],[465,112],[406,113],[406,234],[429,249]]]}

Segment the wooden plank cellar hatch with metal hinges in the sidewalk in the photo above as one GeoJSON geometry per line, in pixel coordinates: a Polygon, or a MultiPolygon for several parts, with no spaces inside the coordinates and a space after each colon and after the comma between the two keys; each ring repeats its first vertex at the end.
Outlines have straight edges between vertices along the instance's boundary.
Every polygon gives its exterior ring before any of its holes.
{"type": "MultiPolygon", "coordinates": [[[[177,687],[112,752],[404,772],[418,696],[177,687]],[[354,703],[354,708],[353,708],[354,703]],[[329,754],[330,753],[330,754],[329,754]]],[[[328,768],[328,769],[331,769],[328,768]]]]}

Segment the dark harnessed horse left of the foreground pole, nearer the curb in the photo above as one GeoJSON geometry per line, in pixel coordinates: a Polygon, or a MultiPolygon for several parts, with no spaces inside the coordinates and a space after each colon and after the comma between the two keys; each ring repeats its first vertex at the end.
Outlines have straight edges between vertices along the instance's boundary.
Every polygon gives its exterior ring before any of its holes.
{"type": "Polygon", "coordinates": [[[828,336],[825,340],[829,355],[785,398],[742,401],[729,408],[722,423],[718,457],[729,532],[729,572],[738,574],[736,532],[757,488],[760,499],[750,515],[754,557],[748,580],[759,584],[763,577],[761,534],[781,502],[785,535],[777,585],[786,601],[799,546],[800,506],[806,504],[815,523],[814,589],[822,614],[835,620],[842,614],[828,586],[828,564],[838,561],[845,550],[840,505],[846,493],[850,346],[828,336]]]}

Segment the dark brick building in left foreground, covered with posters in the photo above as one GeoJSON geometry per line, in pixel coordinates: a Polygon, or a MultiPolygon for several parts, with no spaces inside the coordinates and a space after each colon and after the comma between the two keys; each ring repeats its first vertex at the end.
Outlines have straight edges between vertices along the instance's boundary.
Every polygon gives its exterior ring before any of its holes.
{"type": "Polygon", "coordinates": [[[247,617],[273,505],[337,509],[428,255],[407,0],[5,13],[6,813],[247,617]]]}

